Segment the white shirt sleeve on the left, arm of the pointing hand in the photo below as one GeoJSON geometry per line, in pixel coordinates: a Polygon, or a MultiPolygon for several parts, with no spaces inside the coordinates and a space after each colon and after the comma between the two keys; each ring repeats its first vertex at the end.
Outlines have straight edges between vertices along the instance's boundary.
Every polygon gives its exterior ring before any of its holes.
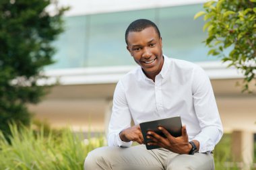
{"type": "Polygon", "coordinates": [[[119,133],[131,127],[131,113],[121,81],[117,83],[113,97],[113,109],[108,126],[108,146],[129,147],[132,142],[123,142],[119,133]]]}

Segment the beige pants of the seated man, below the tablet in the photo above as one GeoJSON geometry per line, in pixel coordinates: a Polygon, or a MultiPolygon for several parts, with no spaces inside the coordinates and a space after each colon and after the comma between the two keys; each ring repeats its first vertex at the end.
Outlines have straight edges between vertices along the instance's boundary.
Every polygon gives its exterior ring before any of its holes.
{"type": "Polygon", "coordinates": [[[145,145],[120,148],[105,146],[88,154],[84,170],[213,170],[214,157],[208,153],[179,155],[164,148],[147,150],[145,145]]]}

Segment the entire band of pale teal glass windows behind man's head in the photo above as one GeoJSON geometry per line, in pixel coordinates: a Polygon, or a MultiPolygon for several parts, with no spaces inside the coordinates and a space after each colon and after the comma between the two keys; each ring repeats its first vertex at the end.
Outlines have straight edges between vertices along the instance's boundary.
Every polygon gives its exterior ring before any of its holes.
{"type": "Polygon", "coordinates": [[[219,60],[207,56],[202,43],[203,19],[194,20],[202,4],[65,17],[65,32],[54,44],[57,61],[47,69],[136,65],[126,49],[125,30],[135,19],[155,22],[169,57],[192,62],[219,60]]]}

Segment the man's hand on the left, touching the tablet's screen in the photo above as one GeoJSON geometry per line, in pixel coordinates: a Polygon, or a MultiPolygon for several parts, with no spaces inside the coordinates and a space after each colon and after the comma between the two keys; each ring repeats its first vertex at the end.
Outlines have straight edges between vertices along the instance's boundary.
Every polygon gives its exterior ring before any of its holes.
{"type": "Polygon", "coordinates": [[[131,126],[131,128],[127,128],[127,129],[123,130],[119,134],[119,136],[123,142],[133,141],[133,142],[138,142],[139,144],[144,143],[139,124],[137,124],[135,126],[131,126]]]}

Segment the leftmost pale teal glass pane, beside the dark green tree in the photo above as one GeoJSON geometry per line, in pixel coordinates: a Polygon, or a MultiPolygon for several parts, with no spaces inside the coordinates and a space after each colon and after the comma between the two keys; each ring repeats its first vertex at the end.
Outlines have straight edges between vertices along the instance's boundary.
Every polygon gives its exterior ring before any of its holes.
{"type": "Polygon", "coordinates": [[[56,42],[57,53],[53,57],[54,65],[46,69],[64,69],[84,67],[86,59],[86,35],[87,16],[65,17],[65,32],[56,42]]]}

